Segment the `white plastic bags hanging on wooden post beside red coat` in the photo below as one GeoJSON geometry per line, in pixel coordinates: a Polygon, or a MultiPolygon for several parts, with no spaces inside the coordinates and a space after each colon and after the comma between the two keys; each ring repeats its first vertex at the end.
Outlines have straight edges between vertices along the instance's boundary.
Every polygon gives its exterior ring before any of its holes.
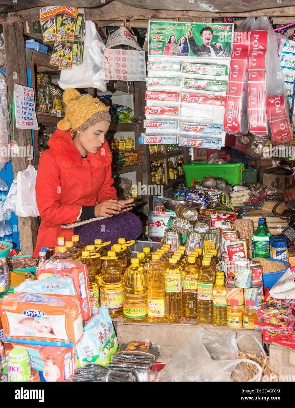
{"type": "Polygon", "coordinates": [[[39,211],[36,203],[37,171],[33,166],[26,170],[18,171],[16,193],[16,215],[19,217],[38,217],[39,211]]]}

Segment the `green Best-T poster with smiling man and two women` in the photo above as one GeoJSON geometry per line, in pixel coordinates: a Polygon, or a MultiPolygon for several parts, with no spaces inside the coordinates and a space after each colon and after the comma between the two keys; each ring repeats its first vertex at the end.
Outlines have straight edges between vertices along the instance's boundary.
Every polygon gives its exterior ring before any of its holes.
{"type": "Polygon", "coordinates": [[[149,55],[230,58],[232,23],[149,21],[149,55]]]}

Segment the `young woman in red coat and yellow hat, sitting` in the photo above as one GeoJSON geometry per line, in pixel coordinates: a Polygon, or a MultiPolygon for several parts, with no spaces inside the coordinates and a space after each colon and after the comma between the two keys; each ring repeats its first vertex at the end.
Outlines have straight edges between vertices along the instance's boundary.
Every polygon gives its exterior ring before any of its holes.
{"type": "Polygon", "coordinates": [[[42,218],[34,257],[41,246],[54,247],[59,236],[94,244],[118,242],[118,238],[136,239],[141,234],[141,221],[124,206],[133,200],[118,200],[112,186],[112,153],[105,133],[110,125],[107,107],[91,95],[66,89],[63,95],[65,118],[50,137],[49,149],[40,157],[36,200],[42,218]],[[61,228],[92,217],[107,217],[72,229],[61,228]]]}

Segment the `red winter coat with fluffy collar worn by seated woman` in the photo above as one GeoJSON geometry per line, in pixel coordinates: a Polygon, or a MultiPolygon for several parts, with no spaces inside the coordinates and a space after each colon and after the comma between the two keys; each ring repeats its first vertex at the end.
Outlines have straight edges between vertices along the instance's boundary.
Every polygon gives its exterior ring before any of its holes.
{"type": "Polygon", "coordinates": [[[105,141],[101,149],[82,159],[69,131],[56,130],[40,156],[36,200],[42,218],[33,257],[41,246],[54,247],[57,238],[70,240],[74,228],[60,224],[77,222],[81,206],[93,206],[105,200],[117,200],[112,186],[112,153],[105,141]]]}

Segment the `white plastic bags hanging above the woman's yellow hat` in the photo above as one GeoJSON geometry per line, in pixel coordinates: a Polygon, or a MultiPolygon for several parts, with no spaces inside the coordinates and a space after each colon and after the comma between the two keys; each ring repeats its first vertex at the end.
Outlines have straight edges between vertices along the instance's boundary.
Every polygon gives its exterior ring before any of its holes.
{"type": "Polygon", "coordinates": [[[93,21],[85,22],[84,56],[81,65],[72,69],[62,69],[58,85],[66,88],[97,88],[106,91],[103,80],[103,48],[105,44],[93,21]]]}

